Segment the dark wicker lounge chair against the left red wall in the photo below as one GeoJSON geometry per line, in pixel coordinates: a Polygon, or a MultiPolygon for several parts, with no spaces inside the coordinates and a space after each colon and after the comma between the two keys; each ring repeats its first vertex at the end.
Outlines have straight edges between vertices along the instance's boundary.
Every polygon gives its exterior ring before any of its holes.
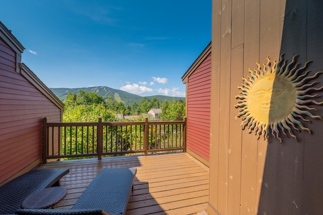
{"type": "Polygon", "coordinates": [[[0,187],[0,214],[15,213],[32,193],[53,185],[69,173],[69,169],[31,170],[0,187]]]}

